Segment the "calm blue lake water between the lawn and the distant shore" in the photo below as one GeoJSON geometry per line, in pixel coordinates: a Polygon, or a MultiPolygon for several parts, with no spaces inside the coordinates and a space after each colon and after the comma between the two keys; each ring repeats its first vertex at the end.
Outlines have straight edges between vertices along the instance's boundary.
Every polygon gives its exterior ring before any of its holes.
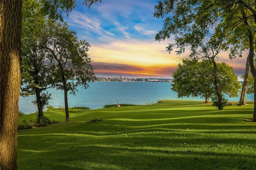
{"type": "MultiPolygon", "coordinates": [[[[199,100],[196,98],[178,98],[177,93],[171,90],[169,82],[93,82],[84,90],[78,87],[75,96],[68,95],[68,106],[85,106],[92,109],[102,108],[106,104],[154,104],[158,100],[199,100]]],[[[52,99],[49,105],[64,106],[64,92],[54,88],[49,89],[52,99]]],[[[34,113],[36,105],[32,104],[35,96],[20,97],[19,109],[23,113],[34,113]]],[[[230,101],[239,101],[240,98],[228,98],[230,101]]],[[[246,101],[254,100],[253,95],[246,95],[246,101]]]]}

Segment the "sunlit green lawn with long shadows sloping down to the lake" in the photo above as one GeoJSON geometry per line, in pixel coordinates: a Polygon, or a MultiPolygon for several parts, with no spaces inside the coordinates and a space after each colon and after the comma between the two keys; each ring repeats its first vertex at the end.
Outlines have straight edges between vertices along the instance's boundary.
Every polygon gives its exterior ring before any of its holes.
{"type": "Polygon", "coordinates": [[[70,113],[68,124],[64,112],[46,111],[59,123],[18,131],[18,169],[254,169],[256,124],[245,121],[253,107],[163,100],[70,113]]]}

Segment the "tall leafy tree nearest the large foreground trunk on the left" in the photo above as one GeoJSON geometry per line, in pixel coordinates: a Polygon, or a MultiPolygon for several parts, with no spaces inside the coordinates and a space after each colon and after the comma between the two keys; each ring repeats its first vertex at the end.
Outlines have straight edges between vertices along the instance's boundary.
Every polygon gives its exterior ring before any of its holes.
{"type": "Polygon", "coordinates": [[[35,94],[33,102],[38,107],[40,123],[44,121],[43,108],[48,104],[50,94],[42,92],[52,83],[52,76],[42,50],[42,27],[46,25],[46,17],[42,15],[40,4],[37,1],[23,1],[22,22],[22,96],[35,94]],[[33,10],[32,10],[33,9],[33,10]]]}

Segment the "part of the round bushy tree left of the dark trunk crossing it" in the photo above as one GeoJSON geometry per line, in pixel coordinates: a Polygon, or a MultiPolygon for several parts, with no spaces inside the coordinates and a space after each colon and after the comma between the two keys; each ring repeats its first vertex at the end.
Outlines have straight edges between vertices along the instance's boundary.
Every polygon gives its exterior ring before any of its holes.
{"type": "Polygon", "coordinates": [[[201,96],[208,103],[214,93],[212,66],[208,61],[183,60],[172,76],[172,90],[179,98],[201,96]]]}

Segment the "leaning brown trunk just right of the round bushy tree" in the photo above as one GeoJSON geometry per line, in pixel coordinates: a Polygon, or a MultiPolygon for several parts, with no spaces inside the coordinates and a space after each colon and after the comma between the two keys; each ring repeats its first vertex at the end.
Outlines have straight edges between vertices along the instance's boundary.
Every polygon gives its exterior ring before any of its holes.
{"type": "Polygon", "coordinates": [[[249,80],[249,69],[250,69],[250,64],[249,64],[249,55],[248,55],[247,59],[246,59],[246,67],[245,67],[245,73],[244,73],[244,82],[243,82],[242,92],[241,92],[240,101],[238,103],[238,106],[246,105],[245,96],[246,96],[246,89],[247,89],[248,80],[249,80]]]}

